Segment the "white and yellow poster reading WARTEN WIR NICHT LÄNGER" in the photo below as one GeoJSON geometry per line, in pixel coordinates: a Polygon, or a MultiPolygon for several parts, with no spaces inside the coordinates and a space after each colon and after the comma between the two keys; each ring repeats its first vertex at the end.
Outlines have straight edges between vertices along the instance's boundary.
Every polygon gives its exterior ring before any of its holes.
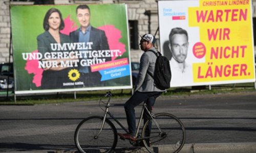
{"type": "Polygon", "coordinates": [[[249,0],[159,1],[171,87],[255,82],[249,0]]]}

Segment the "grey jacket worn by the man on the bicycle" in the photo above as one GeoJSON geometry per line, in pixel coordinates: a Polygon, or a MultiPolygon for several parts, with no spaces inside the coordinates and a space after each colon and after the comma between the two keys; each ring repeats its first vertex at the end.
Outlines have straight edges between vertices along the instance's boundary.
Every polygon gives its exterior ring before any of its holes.
{"type": "MultiPolygon", "coordinates": [[[[152,47],[148,50],[153,50],[154,52],[158,52],[155,47],[152,47]]],[[[154,74],[155,71],[155,63],[156,63],[156,55],[152,52],[145,52],[142,54],[140,58],[140,69],[139,74],[137,76],[137,80],[135,83],[135,91],[140,92],[164,92],[165,90],[160,90],[156,87],[154,84],[154,79],[151,77],[150,74],[147,73],[150,72],[151,74],[154,74]]]]}

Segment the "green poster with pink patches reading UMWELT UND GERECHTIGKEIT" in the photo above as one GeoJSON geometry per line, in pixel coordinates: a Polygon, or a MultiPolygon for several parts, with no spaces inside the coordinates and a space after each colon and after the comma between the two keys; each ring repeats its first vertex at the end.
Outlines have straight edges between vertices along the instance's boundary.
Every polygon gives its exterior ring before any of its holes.
{"type": "Polygon", "coordinates": [[[132,88],[125,4],[13,5],[11,30],[16,94],[132,88]]]}

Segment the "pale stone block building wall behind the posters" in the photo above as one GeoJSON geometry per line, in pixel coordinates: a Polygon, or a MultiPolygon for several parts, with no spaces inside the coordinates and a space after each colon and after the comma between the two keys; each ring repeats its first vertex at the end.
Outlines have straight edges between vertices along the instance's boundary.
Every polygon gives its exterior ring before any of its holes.
{"type": "MultiPolygon", "coordinates": [[[[152,34],[155,34],[158,28],[156,0],[141,0],[141,1],[101,0],[101,1],[93,1],[93,2],[55,0],[54,2],[55,4],[126,3],[128,19],[138,20],[139,35],[143,35],[149,32],[152,34]],[[150,15],[146,14],[146,12],[150,15]]],[[[24,2],[24,3],[31,4],[31,2],[24,2]]],[[[10,33],[11,33],[9,4],[10,4],[9,1],[7,0],[0,0],[0,8],[1,8],[0,9],[0,62],[9,61],[9,46],[10,46],[10,33]]],[[[252,8],[253,16],[256,17],[256,0],[252,0],[252,7],[253,7],[252,8]]],[[[159,38],[159,33],[157,33],[156,37],[159,38]]],[[[131,61],[138,62],[142,53],[143,52],[141,50],[131,49],[131,61]]],[[[12,58],[11,58],[11,61],[12,61],[12,58]]]]}

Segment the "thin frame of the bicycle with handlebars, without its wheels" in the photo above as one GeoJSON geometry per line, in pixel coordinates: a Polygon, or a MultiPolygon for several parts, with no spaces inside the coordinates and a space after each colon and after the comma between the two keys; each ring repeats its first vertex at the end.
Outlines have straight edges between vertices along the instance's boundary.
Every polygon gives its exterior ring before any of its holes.
{"type": "MultiPolygon", "coordinates": [[[[101,125],[101,128],[100,128],[100,131],[98,132],[98,134],[95,136],[95,138],[97,138],[99,136],[99,134],[101,133],[103,127],[104,127],[104,123],[105,123],[105,120],[106,120],[106,116],[110,116],[112,119],[114,119],[114,121],[126,132],[126,133],[129,133],[129,131],[127,131],[125,129],[125,127],[114,117],[114,115],[112,115],[110,112],[109,112],[109,107],[110,106],[123,106],[123,104],[110,104],[110,99],[111,99],[111,94],[106,94],[106,96],[109,97],[108,99],[108,102],[106,103],[106,106],[105,106],[105,111],[104,111],[104,116],[103,116],[103,121],[102,121],[102,125],[101,125]]],[[[136,129],[136,137],[138,136],[138,133],[139,133],[139,129],[140,129],[140,124],[141,124],[141,121],[142,121],[142,117],[143,117],[143,113],[144,113],[144,110],[147,111],[148,114],[150,114],[150,118],[155,122],[155,124],[157,125],[158,127],[158,130],[160,133],[162,133],[162,130],[159,126],[159,124],[157,123],[157,121],[155,120],[155,118],[153,117],[154,114],[152,114],[146,107],[146,103],[143,104],[143,107],[142,107],[142,110],[141,110],[141,114],[140,114],[140,119],[139,119],[139,122],[137,124],[137,129],[136,129]]],[[[147,138],[150,138],[150,137],[145,137],[145,138],[138,138],[137,140],[142,140],[142,139],[147,139],[147,138]]]]}

